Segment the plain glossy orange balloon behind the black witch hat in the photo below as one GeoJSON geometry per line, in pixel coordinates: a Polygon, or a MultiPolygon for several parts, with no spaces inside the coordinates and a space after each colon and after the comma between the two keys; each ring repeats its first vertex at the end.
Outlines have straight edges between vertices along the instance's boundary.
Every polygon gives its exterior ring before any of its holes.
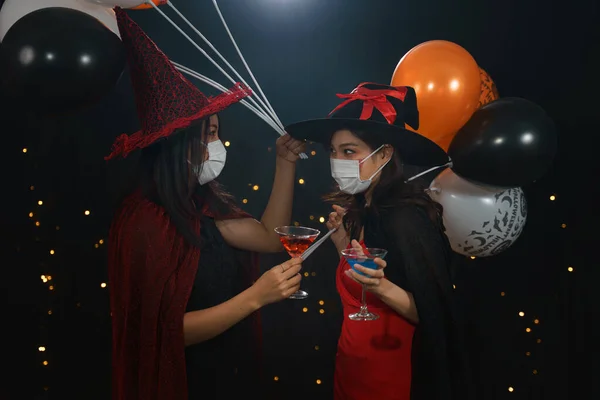
{"type": "Polygon", "coordinates": [[[461,46],[432,40],[413,47],[402,57],[392,86],[411,86],[417,92],[419,134],[444,150],[477,109],[481,92],[479,66],[461,46]]]}

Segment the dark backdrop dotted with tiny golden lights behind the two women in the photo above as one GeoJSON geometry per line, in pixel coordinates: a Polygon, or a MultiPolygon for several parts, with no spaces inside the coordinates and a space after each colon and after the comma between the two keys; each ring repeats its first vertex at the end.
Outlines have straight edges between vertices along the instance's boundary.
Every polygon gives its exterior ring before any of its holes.
{"type": "MultiPolygon", "coordinates": [[[[175,5],[248,76],[211,2],[175,5]]],[[[360,82],[389,82],[402,55],[432,39],[465,47],[501,96],[527,98],[551,115],[559,153],[548,174],[524,188],[529,217],[521,238],[494,258],[457,257],[456,292],[470,318],[481,399],[567,399],[575,392],[598,398],[597,2],[223,0],[220,6],[284,123],[324,116],[337,105],[335,93],[360,82]]],[[[173,60],[230,86],[158,13],[130,15],[173,60]]],[[[103,156],[118,134],[139,126],[129,76],[100,104],[64,117],[41,118],[0,101],[6,354],[0,398],[108,399],[103,240],[134,160],[107,165],[103,156]]],[[[240,105],[224,112],[222,122],[231,142],[222,181],[260,217],[276,133],[240,105]]],[[[322,148],[310,150],[316,155],[298,167],[305,184],[296,188],[294,220],[324,230],[318,219],[328,213],[320,201],[331,187],[328,159],[322,148]]],[[[284,258],[265,256],[263,267],[284,258]]],[[[322,246],[305,263],[310,297],[264,309],[270,398],[331,398],[341,321],[336,264],[333,246],[322,246]]]]}

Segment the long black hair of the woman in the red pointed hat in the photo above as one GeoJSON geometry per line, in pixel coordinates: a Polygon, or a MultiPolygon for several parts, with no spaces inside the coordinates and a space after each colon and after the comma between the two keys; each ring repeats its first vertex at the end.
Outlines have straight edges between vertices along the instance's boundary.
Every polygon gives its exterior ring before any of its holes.
{"type": "MultiPolygon", "coordinates": [[[[191,165],[202,166],[209,118],[174,132],[141,152],[138,185],[144,197],[163,207],[179,233],[191,245],[202,245],[193,221],[205,206],[216,215],[234,210],[234,198],[216,180],[199,185],[191,165]]],[[[219,127],[220,129],[220,127],[219,127]]]]}

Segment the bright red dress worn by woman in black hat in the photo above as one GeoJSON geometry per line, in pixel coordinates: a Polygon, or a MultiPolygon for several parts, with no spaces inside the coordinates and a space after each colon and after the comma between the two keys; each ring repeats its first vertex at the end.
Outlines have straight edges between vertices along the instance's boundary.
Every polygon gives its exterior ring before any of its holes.
{"type": "Polygon", "coordinates": [[[409,400],[415,328],[371,293],[367,293],[367,305],[379,319],[348,319],[361,304],[361,286],[344,273],[349,268],[342,258],[336,272],[344,322],[336,356],[334,399],[409,400]]]}

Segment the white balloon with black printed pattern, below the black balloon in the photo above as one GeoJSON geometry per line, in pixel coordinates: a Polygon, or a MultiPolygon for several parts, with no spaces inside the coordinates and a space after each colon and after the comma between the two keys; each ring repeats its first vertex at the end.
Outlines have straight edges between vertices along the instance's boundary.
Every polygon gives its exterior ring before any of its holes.
{"type": "Polygon", "coordinates": [[[430,185],[429,196],[444,207],[452,250],[466,256],[494,256],[518,239],[527,221],[521,188],[475,185],[446,169],[430,185]]]}

